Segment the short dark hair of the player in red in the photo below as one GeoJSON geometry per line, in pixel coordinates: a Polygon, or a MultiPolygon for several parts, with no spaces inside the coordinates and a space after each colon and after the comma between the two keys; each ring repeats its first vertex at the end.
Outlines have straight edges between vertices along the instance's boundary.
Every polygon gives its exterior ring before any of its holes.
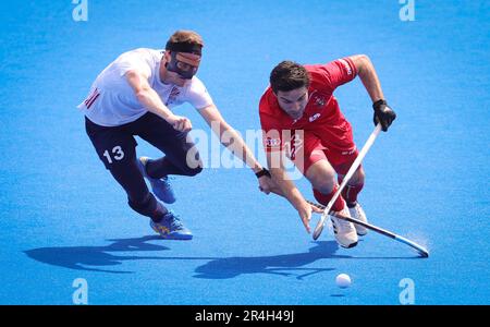
{"type": "Polygon", "coordinates": [[[270,73],[270,86],[278,94],[279,90],[289,92],[309,86],[309,74],[306,69],[293,61],[283,61],[270,73]]]}

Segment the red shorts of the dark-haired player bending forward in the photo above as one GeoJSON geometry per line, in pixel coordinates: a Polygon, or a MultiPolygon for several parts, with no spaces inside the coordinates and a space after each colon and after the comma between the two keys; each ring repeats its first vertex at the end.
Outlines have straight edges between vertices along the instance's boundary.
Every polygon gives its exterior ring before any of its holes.
{"type": "Polygon", "coordinates": [[[352,132],[347,134],[342,142],[332,143],[322,138],[320,133],[304,131],[303,149],[296,148],[294,158],[290,158],[303,174],[315,162],[328,160],[336,173],[345,175],[358,155],[352,132]]]}

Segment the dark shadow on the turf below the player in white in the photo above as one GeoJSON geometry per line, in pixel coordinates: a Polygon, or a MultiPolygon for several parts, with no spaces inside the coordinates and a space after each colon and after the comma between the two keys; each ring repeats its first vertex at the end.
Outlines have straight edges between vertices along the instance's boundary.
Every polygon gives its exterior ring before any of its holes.
{"type": "Polygon", "coordinates": [[[162,257],[159,256],[113,254],[118,252],[156,252],[170,250],[162,245],[147,243],[151,240],[161,240],[161,238],[150,235],[135,239],[108,240],[112,243],[106,246],[39,247],[24,251],[24,253],[37,262],[75,270],[131,274],[132,271],[108,270],[100,267],[118,266],[125,261],[161,259],[162,257]]]}

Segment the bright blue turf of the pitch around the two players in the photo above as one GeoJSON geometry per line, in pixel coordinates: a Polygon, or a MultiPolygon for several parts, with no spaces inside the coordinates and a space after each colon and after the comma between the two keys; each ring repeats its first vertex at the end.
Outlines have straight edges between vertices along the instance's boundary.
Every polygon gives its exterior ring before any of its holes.
{"type": "MultiPolygon", "coordinates": [[[[85,278],[90,304],[489,304],[490,4],[396,0],[0,2],[0,304],[71,304],[85,278]],[[120,52],[162,47],[177,28],[206,41],[199,77],[238,131],[283,59],[367,53],[399,113],[367,155],[360,201],[372,223],[426,244],[420,259],[369,234],[356,249],[327,232],[313,242],[285,201],[245,169],[176,178],[189,242],[154,237],[98,160],[75,106],[120,52]],[[335,287],[351,275],[347,290],[335,287]]],[[[336,92],[360,146],[372,130],[359,81],[336,92]]],[[[204,121],[189,107],[195,129],[204,121]]],[[[139,142],[138,154],[158,152],[139,142]]],[[[309,196],[305,181],[298,183],[309,196]]]]}

